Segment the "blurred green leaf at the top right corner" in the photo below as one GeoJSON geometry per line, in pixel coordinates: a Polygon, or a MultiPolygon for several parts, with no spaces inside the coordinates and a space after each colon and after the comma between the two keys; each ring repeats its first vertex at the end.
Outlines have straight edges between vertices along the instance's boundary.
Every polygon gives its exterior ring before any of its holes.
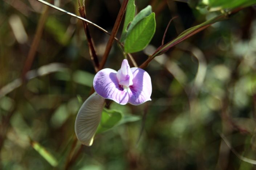
{"type": "Polygon", "coordinates": [[[210,11],[222,9],[245,8],[256,4],[256,0],[209,0],[210,11]]]}

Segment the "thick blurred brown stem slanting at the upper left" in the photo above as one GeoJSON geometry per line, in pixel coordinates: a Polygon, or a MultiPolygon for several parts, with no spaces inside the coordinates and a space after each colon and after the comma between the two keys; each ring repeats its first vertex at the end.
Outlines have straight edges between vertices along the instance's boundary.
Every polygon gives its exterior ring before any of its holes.
{"type": "Polygon", "coordinates": [[[45,24],[46,18],[48,16],[48,11],[49,11],[49,7],[45,6],[44,10],[42,12],[42,15],[40,17],[39,24],[38,24],[37,29],[36,29],[36,35],[33,39],[32,45],[29,49],[28,57],[25,61],[25,65],[24,65],[23,71],[21,73],[22,81],[25,80],[25,75],[31,69],[32,63],[34,61],[34,57],[36,55],[36,50],[38,48],[40,39],[42,37],[42,32],[44,30],[44,24],[45,24]]]}

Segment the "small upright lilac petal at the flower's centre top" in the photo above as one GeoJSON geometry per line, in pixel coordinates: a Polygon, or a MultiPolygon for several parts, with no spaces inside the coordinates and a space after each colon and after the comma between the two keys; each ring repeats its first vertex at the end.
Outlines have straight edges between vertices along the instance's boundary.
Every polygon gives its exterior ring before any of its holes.
{"type": "Polygon", "coordinates": [[[121,68],[117,71],[117,79],[119,85],[126,87],[133,85],[133,73],[131,72],[130,65],[126,59],[122,61],[121,68]]]}

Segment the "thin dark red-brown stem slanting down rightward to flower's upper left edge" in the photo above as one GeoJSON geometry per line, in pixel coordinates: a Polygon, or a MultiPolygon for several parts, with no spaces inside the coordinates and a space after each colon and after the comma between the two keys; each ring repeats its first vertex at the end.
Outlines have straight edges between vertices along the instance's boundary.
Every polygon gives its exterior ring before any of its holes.
{"type": "MultiPolygon", "coordinates": [[[[79,0],[78,0],[78,4],[79,4],[78,11],[80,13],[80,16],[82,18],[86,19],[85,7],[80,6],[79,0]]],[[[91,59],[93,61],[94,69],[95,69],[96,72],[98,72],[99,60],[98,60],[98,57],[97,57],[97,54],[96,54],[96,51],[95,51],[95,48],[94,48],[94,45],[93,45],[93,40],[92,40],[92,37],[90,35],[88,24],[85,21],[82,21],[82,22],[83,22],[84,31],[85,31],[86,39],[87,39],[87,42],[88,42],[89,50],[90,50],[90,56],[91,56],[91,59]]]]}

